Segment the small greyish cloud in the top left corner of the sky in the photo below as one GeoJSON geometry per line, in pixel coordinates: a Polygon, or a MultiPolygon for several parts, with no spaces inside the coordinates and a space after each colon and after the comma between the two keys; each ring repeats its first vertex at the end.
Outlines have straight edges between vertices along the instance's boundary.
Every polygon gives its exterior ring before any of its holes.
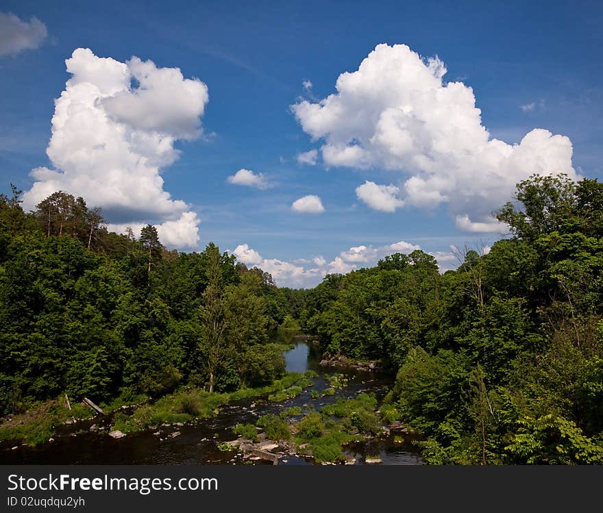
{"type": "Polygon", "coordinates": [[[47,38],[46,25],[35,16],[23,21],[10,12],[0,12],[0,55],[16,55],[38,48],[47,38]]]}

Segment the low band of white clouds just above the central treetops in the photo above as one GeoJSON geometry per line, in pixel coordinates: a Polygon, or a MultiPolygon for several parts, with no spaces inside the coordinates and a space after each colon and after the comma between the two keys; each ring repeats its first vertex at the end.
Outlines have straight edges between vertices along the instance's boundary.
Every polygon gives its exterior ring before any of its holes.
{"type": "Polygon", "coordinates": [[[257,266],[270,273],[279,286],[308,288],[319,284],[325,275],[345,274],[361,267],[371,267],[386,255],[408,254],[415,249],[421,248],[404,240],[378,247],[360,245],[341,251],[330,262],[322,255],[316,256],[312,260],[299,259],[294,262],[285,262],[276,258],[267,259],[247,244],[238,245],[234,251],[229,252],[235,255],[239,262],[243,262],[249,267],[257,266]]]}

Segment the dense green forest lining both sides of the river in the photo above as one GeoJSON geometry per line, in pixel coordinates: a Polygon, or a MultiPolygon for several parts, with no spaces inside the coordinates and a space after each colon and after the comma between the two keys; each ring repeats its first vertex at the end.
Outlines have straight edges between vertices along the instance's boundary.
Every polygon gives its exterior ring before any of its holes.
{"type": "Polygon", "coordinates": [[[301,330],[326,355],[380,360],[382,405],[430,464],[603,463],[603,184],[517,184],[509,230],[439,273],[423,251],[275,286],[210,243],[168,251],[147,225],[108,232],[58,191],[0,197],[0,416],[62,394],[95,401],[267,386],[301,330]]]}

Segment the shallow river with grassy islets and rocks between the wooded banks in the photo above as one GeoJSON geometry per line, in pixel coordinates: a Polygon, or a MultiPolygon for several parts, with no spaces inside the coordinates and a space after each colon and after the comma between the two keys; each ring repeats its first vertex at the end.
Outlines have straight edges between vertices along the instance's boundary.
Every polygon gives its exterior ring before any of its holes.
{"type": "MultiPolygon", "coordinates": [[[[282,382],[280,390],[264,387],[261,390],[264,394],[259,397],[256,395],[260,392],[258,389],[240,390],[230,395],[229,401],[208,418],[191,419],[186,423],[162,422],[149,425],[148,429],[131,431],[121,438],[112,438],[109,433],[114,430],[115,416],[123,413],[132,419],[134,412],[145,405],[130,410],[116,408],[113,414],[103,418],[97,416],[75,426],[61,425],[53,442],[45,441],[36,447],[19,445],[14,450],[8,447],[1,458],[7,464],[267,464],[274,459],[279,465],[318,464],[319,460],[323,464],[345,464],[352,460],[355,464],[369,464],[378,459],[385,465],[422,464],[412,434],[387,431],[391,421],[383,399],[393,384],[391,376],[323,368],[319,364],[319,352],[306,342],[298,342],[294,349],[286,351],[285,359],[289,371],[302,371],[297,375],[308,380],[308,386],[301,392],[293,388],[285,399],[277,396],[296,384],[282,382]],[[380,427],[376,435],[367,436],[368,433],[360,429],[355,433],[354,427],[349,427],[349,421],[343,419],[345,414],[339,417],[330,412],[338,401],[358,399],[360,395],[373,395],[377,401],[376,408],[371,407],[369,412],[378,418],[380,427]],[[299,437],[308,431],[302,429],[300,434],[297,426],[306,417],[313,421],[307,421],[308,427],[318,425],[320,429],[315,431],[315,437],[302,440],[299,437]],[[284,430],[275,418],[286,423],[290,436],[278,435],[284,430]],[[319,422],[316,422],[317,418],[319,422]],[[240,429],[245,431],[238,433],[240,429]],[[259,458],[257,453],[245,451],[245,447],[241,450],[226,447],[225,442],[243,438],[244,433],[245,436],[258,434],[260,444],[269,442],[264,449],[278,444],[267,450],[273,453],[272,460],[256,459],[259,458]]],[[[247,449],[264,450],[253,447],[255,443],[247,449]]]]}

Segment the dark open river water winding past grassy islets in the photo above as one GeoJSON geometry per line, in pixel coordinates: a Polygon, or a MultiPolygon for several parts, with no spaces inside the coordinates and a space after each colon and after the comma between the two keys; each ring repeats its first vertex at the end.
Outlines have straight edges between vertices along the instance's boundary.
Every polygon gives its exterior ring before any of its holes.
{"type": "MultiPolygon", "coordinates": [[[[159,434],[151,431],[135,433],[125,438],[114,439],[101,431],[83,431],[69,433],[73,427],[66,427],[64,434],[55,437],[52,443],[38,447],[20,446],[17,449],[3,450],[0,461],[5,464],[242,464],[241,456],[234,451],[220,451],[219,442],[234,440],[232,428],[237,423],[254,423],[258,417],[267,414],[279,414],[285,408],[312,403],[316,410],[323,405],[333,403],[339,397],[355,397],[361,392],[374,392],[382,399],[391,386],[392,379],[380,373],[361,373],[349,369],[334,369],[319,366],[319,355],[305,342],[297,342],[295,348],[285,353],[286,367],[291,372],[313,370],[320,377],[312,378],[314,385],[304,389],[299,395],[282,403],[248,399],[227,405],[214,418],[183,426],[161,427],[159,434]],[[343,373],[348,378],[343,389],[336,389],[335,395],[312,399],[311,390],[323,390],[328,384],[324,375],[343,373]],[[169,435],[180,431],[180,435],[169,435]]],[[[106,419],[109,422],[109,419],[106,419]]],[[[93,423],[103,425],[102,421],[78,423],[78,428],[88,429],[93,423]]],[[[157,433],[158,431],[155,431],[157,433]]],[[[406,438],[406,437],[405,437],[406,438]]],[[[375,442],[358,444],[346,453],[357,464],[363,464],[369,455],[378,455],[384,464],[417,465],[422,464],[410,440],[396,443],[393,437],[375,442]]],[[[261,464],[261,462],[258,462],[261,464]]],[[[279,464],[312,464],[305,458],[284,455],[279,464]]]]}

